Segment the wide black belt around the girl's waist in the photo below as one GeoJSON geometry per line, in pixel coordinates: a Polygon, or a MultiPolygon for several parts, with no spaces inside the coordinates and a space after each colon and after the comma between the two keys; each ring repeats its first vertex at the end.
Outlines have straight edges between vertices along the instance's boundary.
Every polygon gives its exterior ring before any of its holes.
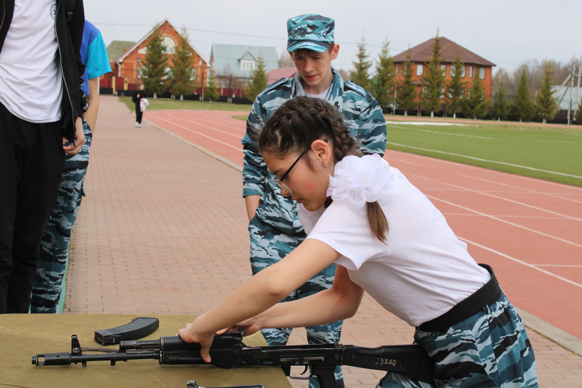
{"type": "Polygon", "coordinates": [[[437,316],[437,318],[431,319],[431,321],[422,323],[417,327],[418,330],[423,330],[423,332],[439,332],[441,330],[446,330],[450,328],[450,326],[455,325],[455,323],[459,323],[463,321],[463,319],[469,318],[480,309],[501,298],[503,291],[499,287],[493,269],[487,264],[479,265],[491,273],[491,279],[489,282],[483,284],[480,289],[459,304],[455,305],[455,307],[449,311],[445,312],[445,314],[437,316]]]}

